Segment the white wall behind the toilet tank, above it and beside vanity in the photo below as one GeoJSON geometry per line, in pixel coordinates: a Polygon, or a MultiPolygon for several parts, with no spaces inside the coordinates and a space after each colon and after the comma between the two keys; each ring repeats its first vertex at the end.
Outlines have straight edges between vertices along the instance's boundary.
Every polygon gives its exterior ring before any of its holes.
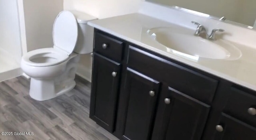
{"type": "MultiPolygon", "coordinates": [[[[78,10],[98,19],[137,12],[142,0],[64,0],[64,10],[78,10]]],[[[81,55],[77,74],[91,81],[92,57],[81,55]]]]}

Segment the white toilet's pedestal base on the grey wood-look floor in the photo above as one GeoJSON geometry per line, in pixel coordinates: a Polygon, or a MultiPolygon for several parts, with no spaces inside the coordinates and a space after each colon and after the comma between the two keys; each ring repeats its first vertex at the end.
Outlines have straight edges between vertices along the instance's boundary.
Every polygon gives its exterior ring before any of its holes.
{"type": "Polygon", "coordinates": [[[71,91],[76,86],[74,79],[79,59],[80,56],[76,55],[63,62],[64,65],[58,64],[64,71],[60,71],[61,74],[56,77],[31,77],[30,97],[37,101],[45,101],[71,91]]]}

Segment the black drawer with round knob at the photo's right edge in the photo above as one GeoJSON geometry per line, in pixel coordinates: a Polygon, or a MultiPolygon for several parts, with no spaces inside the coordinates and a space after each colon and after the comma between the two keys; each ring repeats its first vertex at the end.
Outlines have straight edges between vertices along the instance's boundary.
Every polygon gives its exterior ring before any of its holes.
{"type": "Polygon", "coordinates": [[[256,126],[256,96],[236,87],[231,87],[224,112],[256,126]]]}

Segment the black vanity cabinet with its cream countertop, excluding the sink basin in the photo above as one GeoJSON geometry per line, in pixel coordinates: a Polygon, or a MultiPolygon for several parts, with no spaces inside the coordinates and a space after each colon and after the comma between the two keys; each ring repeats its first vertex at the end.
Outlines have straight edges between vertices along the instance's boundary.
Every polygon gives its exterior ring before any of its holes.
{"type": "Polygon", "coordinates": [[[90,118],[102,128],[120,140],[256,139],[253,49],[238,47],[244,55],[232,60],[184,58],[147,32],[174,24],[142,14],[88,24],[90,118]]]}

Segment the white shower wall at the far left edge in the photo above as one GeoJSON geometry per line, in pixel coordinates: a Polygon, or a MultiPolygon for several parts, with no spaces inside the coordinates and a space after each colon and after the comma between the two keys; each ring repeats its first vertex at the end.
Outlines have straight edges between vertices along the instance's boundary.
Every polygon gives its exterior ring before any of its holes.
{"type": "Polygon", "coordinates": [[[22,51],[17,0],[0,0],[0,49],[20,62],[22,51]]]}

